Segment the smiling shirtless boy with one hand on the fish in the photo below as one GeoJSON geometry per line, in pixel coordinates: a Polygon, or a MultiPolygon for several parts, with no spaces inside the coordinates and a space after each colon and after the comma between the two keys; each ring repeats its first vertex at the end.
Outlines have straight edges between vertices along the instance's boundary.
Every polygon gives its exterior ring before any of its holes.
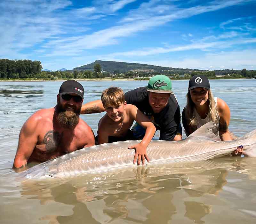
{"type": "Polygon", "coordinates": [[[124,92],[118,87],[104,90],[101,95],[101,101],[107,114],[100,119],[98,124],[98,144],[133,140],[130,127],[135,120],[146,129],[146,134],[139,144],[128,148],[135,149],[134,164],[137,159],[138,165],[140,165],[141,160],[142,164],[144,164],[145,158],[149,162],[147,147],[156,132],[154,124],[136,106],[126,104],[124,92]]]}

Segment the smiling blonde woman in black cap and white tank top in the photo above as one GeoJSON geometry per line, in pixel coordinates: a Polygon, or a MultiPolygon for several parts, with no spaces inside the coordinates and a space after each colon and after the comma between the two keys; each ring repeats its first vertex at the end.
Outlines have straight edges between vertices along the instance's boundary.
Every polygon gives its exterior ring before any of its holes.
{"type": "MultiPolygon", "coordinates": [[[[213,132],[222,141],[233,140],[228,130],[230,109],[227,103],[218,97],[213,97],[206,76],[193,76],[188,84],[187,105],[182,111],[182,124],[186,135],[189,136],[209,121],[218,124],[213,132]]],[[[242,153],[243,146],[239,146],[232,155],[238,156],[242,153]]]]}

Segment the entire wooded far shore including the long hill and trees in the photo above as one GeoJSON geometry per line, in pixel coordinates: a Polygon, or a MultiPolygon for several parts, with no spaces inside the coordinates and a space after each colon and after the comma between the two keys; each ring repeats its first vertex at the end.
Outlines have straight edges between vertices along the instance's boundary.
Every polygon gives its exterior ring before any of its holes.
{"type": "Polygon", "coordinates": [[[123,77],[123,76],[136,76],[136,77],[149,77],[149,75],[163,74],[166,76],[174,76],[174,78],[189,78],[198,74],[203,74],[208,77],[216,77],[224,75],[232,78],[254,78],[256,77],[256,70],[198,70],[190,68],[172,68],[161,67],[155,65],[116,62],[116,61],[101,61],[96,60],[91,64],[74,68],[74,70],[66,70],[62,68],[56,71],[41,71],[41,61],[32,60],[9,60],[0,59],[0,78],[1,79],[17,79],[17,78],[100,78],[100,77],[123,77]],[[104,72],[101,72],[101,71],[104,72]],[[181,77],[182,78],[182,77],[181,77]]]}

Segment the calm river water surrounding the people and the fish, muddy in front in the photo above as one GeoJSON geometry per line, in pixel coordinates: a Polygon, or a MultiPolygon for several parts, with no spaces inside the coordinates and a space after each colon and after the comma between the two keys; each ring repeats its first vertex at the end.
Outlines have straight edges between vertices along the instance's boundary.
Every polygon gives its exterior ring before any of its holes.
{"type": "MultiPolygon", "coordinates": [[[[41,108],[56,105],[62,82],[0,82],[0,223],[255,223],[256,158],[134,166],[63,180],[16,180],[12,163],[20,128],[41,108]]],[[[84,102],[147,81],[81,81],[84,102]]],[[[210,80],[231,111],[237,136],[256,129],[256,80],[210,80]]],[[[188,80],[172,81],[181,110],[188,80]]],[[[101,114],[81,115],[93,129],[101,114]]],[[[159,136],[156,133],[155,139],[159,136]]],[[[184,134],[185,137],[185,134],[184,134]]]]}

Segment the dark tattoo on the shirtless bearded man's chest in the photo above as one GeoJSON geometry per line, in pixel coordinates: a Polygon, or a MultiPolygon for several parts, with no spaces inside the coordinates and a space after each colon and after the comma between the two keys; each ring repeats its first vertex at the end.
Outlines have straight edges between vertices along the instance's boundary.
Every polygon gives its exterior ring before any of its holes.
{"type": "Polygon", "coordinates": [[[56,151],[62,137],[63,133],[54,132],[53,130],[46,132],[43,142],[45,144],[45,149],[47,150],[47,152],[56,151]]]}

